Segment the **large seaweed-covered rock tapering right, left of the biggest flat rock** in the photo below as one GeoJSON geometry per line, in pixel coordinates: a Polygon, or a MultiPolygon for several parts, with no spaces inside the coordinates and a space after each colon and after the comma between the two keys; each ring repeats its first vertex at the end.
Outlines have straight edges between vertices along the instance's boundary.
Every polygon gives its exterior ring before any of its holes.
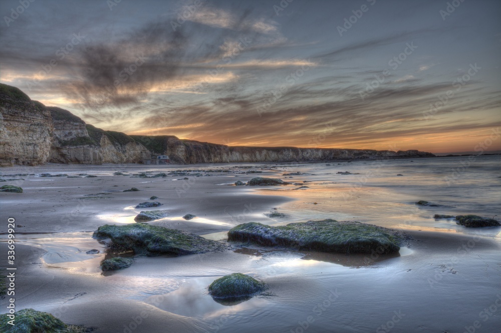
{"type": "Polygon", "coordinates": [[[147,223],[100,226],[94,238],[110,238],[112,247],[133,250],[136,254],[193,254],[223,250],[226,245],[191,232],[165,228],[147,223]]]}

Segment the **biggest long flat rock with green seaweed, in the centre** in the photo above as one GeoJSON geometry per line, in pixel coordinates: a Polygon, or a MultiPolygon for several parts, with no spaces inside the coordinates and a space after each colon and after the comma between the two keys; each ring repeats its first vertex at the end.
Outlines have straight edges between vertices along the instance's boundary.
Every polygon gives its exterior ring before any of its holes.
{"type": "Polygon", "coordinates": [[[400,249],[396,231],[356,221],[324,219],[270,226],[239,224],[228,231],[228,240],[282,245],[304,250],[347,253],[393,253],[400,249]]]}

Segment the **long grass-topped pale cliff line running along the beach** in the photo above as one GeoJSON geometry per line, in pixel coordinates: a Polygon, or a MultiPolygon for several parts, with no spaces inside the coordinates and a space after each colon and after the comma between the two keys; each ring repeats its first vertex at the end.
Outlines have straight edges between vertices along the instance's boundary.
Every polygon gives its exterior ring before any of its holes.
{"type": "Polygon", "coordinates": [[[86,124],[68,110],[47,107],[0,83],[0,165],[143,163],[152,155],[169,155],[176,164],[434,156],[418,150],[246,147],[173,135],[127,135],[86,124]]]}

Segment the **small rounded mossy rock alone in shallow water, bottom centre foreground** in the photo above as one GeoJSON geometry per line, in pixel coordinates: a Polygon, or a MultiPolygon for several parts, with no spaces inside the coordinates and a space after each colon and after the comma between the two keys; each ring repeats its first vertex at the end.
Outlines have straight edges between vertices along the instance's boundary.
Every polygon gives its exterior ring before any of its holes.
{"type": "Polygon", "coordinates": [[[208,289],[214,298],[240,298],[260,293],[267,285],[249,275],[233,273],[214,280],[208,289]]]}

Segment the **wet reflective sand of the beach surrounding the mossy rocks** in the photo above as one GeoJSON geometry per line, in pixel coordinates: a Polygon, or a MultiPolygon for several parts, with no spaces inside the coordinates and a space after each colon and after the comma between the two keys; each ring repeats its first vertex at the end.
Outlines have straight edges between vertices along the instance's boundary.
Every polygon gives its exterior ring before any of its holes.
{"type": "MultiPolygon", "coordinates": [[[[499,331],[501,306],[495,305],[501,294],[499,228],[468,229],[450,221],[435,221],[430,218],[433,213],[461,207],[440,211],[419,208],[412,202],[423,197],[367,184],[350,186],[353,178],[346,177],[352,176],[336,174],[345,169],[363,170],[362,164],[344,163],[328,172],[325,167],[319,169],[319,164],[274,164],[265,166],[262,174],[238,174],[247,169],[224,164],[169,169],[146,165],[3,168],[4,174],[98,175],[22,176],[25,180],[19,185],[24,193],[0,193],[2,218],[13,216],[23,225],[16,228],[17,310],[33,307],[67,323],[103,332],[462,332],[475,321],[480,324],[477,332],[499,331]],[[112,175],[115,171],[152,170],[154,174],[188,168],[231,171],[186,175],[189,183],[172,180],[184,175],[112,175]],[[309,173],[287,179],[282,175],[299,170],[309,173]],[[227,185],[253,176],[306,181],[304,185],[310,188],[227,185]],[[183,184],[187,185],[183,188],[183,184]],[[131,187],[140,191],[119,192],[131,187]],[[94,194],[89,195],[93,198],[85,198],[87,194],[94,194]],[[133,208],[152,195],[163,205],[133,208]],[[265,216],[275,211],[272,208],[287,216],[265,216]],[[168,209],[169,216],[152,224],[221,241],[229,228],[242,222],[285,224],[321,218],[394,227],[412,239],[398,255],[391,256],[232,244],[233,249],[224,252],[137,257],[127,269],[101,273],[100,262],[117,253],[108,252],[104,244],[92,239],[92,231],[106,223],[133,222],[140,210],[155,209],[168,209]],[[186,221],[181,218],[186,213],[198,217],[186,221]],[[100,252],[85,253],[92,248],[100,252]],[[208,284],[236,271],[265,280],[270,286],[267,293],[238,304],[215,302],[207,294],[208,284]]],[[[6,224],[0,226],[2,256],[7,253],[6,224]]],[[[5,309],[2,306],[0,312],[5,313],[5,309]]]]}

